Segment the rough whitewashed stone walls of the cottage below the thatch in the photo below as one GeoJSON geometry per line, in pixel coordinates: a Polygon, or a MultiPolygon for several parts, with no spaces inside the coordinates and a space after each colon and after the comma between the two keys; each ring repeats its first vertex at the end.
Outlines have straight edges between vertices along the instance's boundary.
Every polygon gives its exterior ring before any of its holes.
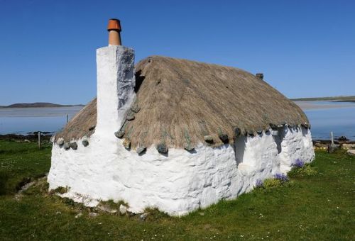
{"type": "Polygon", "coordinates": [[[135,213],[154,206],[170,215],[184,215],[250,191],[257,179],[285,172],[297,158],[312,161],[310,130],[285,127],[281,133],[285,135],[281,143],[264,133],[241,137],[234,147],[200,144],[196,153],[170,149],[168,156],[155,147],[139,156],[126,150],[113,131],[107,136],[94,133],[89,146],[79,141],[77,150],[53,145],[48,182],[50,189],[70,187],[65,196],[87,206],[124,200],[135,213]]]}

